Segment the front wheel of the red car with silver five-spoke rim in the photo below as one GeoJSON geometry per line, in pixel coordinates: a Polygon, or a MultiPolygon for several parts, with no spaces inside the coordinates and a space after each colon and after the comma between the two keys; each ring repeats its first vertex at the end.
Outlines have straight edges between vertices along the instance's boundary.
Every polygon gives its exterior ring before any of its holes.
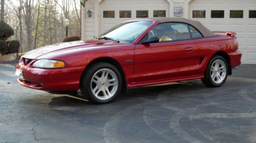
{"type": "Polygon", "coordinates": [[[122,78],[118,69],[109,63],[96,63],[82,74],[80,90],[90,102],[104,104],[121,92],[122,78]]]}

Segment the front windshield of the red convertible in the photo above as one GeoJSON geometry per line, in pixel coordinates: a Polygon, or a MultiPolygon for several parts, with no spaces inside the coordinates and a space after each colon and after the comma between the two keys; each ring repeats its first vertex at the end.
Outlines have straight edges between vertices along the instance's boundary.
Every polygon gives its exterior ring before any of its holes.
{"type": "Polygon", "coordinates": [[[153,22],[133,21],[121,23],[101,34],[97,38],[111,38],[121,43],[133,43],[153,22]]]}

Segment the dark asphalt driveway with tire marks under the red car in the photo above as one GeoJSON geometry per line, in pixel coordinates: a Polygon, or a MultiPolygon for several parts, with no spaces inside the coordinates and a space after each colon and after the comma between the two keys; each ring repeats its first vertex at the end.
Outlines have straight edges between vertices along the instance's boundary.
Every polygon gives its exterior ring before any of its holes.
{"type": "Polygon", "coordinates": [[[94,105],[18,85],[14,65],[0,64],[0,142],[256,142],[256,66],[220,88],[182,81],[94,105]]]}

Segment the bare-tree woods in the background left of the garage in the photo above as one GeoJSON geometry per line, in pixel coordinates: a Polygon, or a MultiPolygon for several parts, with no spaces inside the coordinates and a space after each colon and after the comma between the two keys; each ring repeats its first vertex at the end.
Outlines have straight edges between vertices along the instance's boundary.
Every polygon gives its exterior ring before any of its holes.
{"type": "Polygon", "coordinates": [[[20,42],[20,52],[61,42],[66,36],[81,36],[78,0],[5,0],[5,22],[14,30],[11,40],[20,42]]]}

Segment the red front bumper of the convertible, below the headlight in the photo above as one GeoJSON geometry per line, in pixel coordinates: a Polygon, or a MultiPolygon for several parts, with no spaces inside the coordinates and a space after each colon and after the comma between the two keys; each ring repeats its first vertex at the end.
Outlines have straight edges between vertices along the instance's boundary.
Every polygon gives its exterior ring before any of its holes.
{"type": "Polygon", "coordinates": [[[25,87],[43,91],[74,91],[79,89],[80,77],[86,67],[41,69],[17,64],[23,71],[24,79],[17,82],[25,87]]]}

